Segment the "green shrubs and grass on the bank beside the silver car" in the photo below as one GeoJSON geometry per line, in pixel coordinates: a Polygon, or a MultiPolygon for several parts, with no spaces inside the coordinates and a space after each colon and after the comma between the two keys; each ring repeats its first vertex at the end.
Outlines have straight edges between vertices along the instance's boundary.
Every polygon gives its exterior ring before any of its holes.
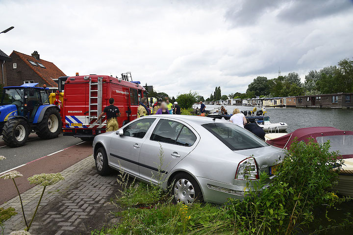
{"type": "MultiPolygon", "coordinates": [[[[330,192],[338,179],[337,163],[342,163],[337,157],[336,152],[329,152],[328,142],[320,145],[313,139],[308,143],[295,141],[272,184],[263,189],[269,176],[261,174],[244,200],[229,199],[223,206],[207,203],[184,206],[154,201],[148,208],[128,207],[118,214],[122,217],[120,224],[92,234],[289,235],[306,230],[309,225],[314,228],[310,230],[312,234],[338,228],[347,230],[353,227],[349,214],[343,222],[337,223],[328,213],[329,208],[335,209],[335,205],[347,200],[330,192]],[[314,223],[315,207],[326,209],[330,225],[314,223]]],[[[138,187],[142,189],[134,193],[143,194],[138,197],[149,202],[147,185],[138,187]]],[[[131,195],[131,198],[136,197],[131,195]]]]}

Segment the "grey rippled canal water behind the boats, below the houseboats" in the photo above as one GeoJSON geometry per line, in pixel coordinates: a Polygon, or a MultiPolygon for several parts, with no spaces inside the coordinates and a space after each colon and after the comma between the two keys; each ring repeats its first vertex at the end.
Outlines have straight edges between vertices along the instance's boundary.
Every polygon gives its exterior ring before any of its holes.
{"type": "MultiPolygon", "coordinates": [[[[196,107],[200,108],[200,105],[196,107]]],[[[206,105],[206,110],[219,108],[221,105],[206,105]]],[[[252,111],[252,106],[227,105],[228,114],[232,114],[235,108],[240,111],[252,111]]],[[[331,126],[340,130],[353,131],[353,109],[320,109],[320,108],[296,108],[296,107],[266,107],[266,116],[270,121],[285,122],[288,124],[287,132],[298,128],[312,126],[331,126]]]]}

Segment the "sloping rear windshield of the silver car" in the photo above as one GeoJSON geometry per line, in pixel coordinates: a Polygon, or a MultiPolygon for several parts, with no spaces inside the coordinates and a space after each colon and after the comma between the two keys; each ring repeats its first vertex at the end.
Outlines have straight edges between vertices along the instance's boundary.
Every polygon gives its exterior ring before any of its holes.
{"type": "Polygon", "coordinates": [[[209,123],[202,126],[233,151],[269,146],[268,143],[233,123],[209,123]]]}

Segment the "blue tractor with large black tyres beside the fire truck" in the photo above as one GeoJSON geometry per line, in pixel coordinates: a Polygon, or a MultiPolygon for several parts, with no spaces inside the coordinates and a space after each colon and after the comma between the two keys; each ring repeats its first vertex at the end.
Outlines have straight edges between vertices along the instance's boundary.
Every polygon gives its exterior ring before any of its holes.
{"type": "Polygon", "coordinates": [[[35,132],[42,139],[53,139],[61,132],[60,109],[49,103],[45,88],[38,83],[4,87],[0,103],[0,134],[10,147],[25,144],[35,132]]]}

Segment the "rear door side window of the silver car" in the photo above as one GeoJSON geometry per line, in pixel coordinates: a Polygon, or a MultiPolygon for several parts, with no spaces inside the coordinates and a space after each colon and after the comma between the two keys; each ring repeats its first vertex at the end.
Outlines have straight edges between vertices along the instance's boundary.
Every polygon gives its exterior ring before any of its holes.
{"type": "Polygon", "coordinates": [[[191,146],[195,143],[196,136],[184,124],[177,121],[161,119],[152,132],[151,140],[191,146]]]}

